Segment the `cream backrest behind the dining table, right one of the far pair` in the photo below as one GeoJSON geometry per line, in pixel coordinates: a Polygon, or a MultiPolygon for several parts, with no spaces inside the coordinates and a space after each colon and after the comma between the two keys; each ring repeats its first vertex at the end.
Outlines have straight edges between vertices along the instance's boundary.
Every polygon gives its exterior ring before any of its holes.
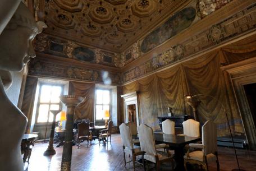
{"type": "Polygon", "coordinates": [[[190,137],[200,137],[200,123],[194,119],[188,119],[183,123],[183,134],[190,137]]]}

